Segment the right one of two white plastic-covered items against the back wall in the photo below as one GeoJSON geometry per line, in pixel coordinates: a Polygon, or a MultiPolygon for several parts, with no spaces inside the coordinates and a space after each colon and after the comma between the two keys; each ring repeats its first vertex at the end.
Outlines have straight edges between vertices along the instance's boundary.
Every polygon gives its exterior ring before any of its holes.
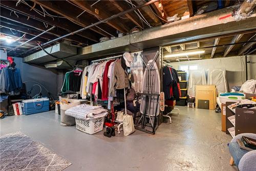
{"type": "Polygon", "coordinates": [[[226,70],[211,69],[207,73],[207,84],[215,85],[217,88],[217,95],[228,92],[226,70]]]}

